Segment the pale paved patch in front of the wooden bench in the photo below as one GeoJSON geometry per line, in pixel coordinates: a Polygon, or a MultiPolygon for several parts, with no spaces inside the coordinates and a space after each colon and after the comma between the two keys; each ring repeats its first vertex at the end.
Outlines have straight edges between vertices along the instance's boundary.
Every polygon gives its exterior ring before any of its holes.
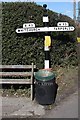
{"type": "Polygon", "coordinates": [[[35,101],[32,102],[26,97],[2,98],[2,116],[5,117],[32,117],[41,116],[45,114],[44,107],[37,104],[35,101]]]}

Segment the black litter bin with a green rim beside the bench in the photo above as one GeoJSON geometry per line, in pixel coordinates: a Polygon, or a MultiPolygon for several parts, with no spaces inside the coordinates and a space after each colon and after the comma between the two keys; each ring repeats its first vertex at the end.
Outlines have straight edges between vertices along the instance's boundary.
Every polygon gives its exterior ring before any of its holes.
{"type": "Polygon", "coordinates": [[[53,104],[57,93],[54,73],[48,70],[39,70],[35,73],[35,79],[36,101],[42,105],[53,104]]]}

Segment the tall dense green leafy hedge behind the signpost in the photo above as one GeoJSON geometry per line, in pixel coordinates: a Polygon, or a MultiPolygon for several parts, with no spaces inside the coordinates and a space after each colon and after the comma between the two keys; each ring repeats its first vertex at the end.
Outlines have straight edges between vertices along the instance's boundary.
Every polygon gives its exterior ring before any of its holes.
{"type": "MultiPolygon", "coordinates": [[[[43,26],[43,8],[31,2],[2,3],[2,64],[31,64],[39,68],[44,65],[44,33],[17,34],[15,30],[24,23],[32,22],[43,26]]],[[[48,10],[50,26],[58,21],[68,21],[75,26],[74,21],[48,10]]],[[[76,32],[52,32],[51,65],[77,65],[76,32]]]]}

